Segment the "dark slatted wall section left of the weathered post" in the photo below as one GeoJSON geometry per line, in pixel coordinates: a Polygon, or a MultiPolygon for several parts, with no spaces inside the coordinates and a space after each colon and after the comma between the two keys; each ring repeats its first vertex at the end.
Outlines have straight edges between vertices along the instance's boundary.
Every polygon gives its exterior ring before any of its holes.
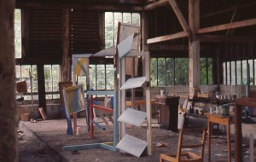
{"type": "Polygon", "coordinates": [[[61,9],[29,9],[26,59],[61,62],[61,9]]]}

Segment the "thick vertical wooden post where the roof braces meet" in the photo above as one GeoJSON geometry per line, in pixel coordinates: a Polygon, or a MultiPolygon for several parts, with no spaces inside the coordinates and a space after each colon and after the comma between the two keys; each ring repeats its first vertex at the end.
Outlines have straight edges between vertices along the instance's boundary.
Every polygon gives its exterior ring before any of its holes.
{"type": "Polygon", "coordinates": [[[196,32],[200,27],[200,1],[189,0],[189,28],[192,32],[189,38],[189,96],[194,96],[194,90],[200,87],[200,41],[196,32]]]}

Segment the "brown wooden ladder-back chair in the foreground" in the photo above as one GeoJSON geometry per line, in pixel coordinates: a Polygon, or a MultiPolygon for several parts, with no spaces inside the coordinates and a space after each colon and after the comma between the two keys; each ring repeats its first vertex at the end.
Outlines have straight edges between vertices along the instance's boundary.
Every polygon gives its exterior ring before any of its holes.
{"type": "MultiPolygon", "coordinates": [[[[182,129],[179,132],[178,142],[177,142],[177,153],[174,154],[166,154],[160,153],[160,162],[170,161],[170,162],[202,162],[204,160],[204,151],[205,151],[205,142],[206,142],[206,133],[207,129],[205,127],[202,128],[193,128],[193,129],[182,129]],[[200,139],[196,136],[197,140],[193,139],[193,143],[185,143],[183,141],[184,135],[191,135],[193,133],[201,133],[200,139]],[[199,150],[201,148],[201,153],[193,153],[193,152],[184,152],[183,148],[197,148],[199,150]]],[[[192,150],[191,150],[192,151],[192,150]]]]}

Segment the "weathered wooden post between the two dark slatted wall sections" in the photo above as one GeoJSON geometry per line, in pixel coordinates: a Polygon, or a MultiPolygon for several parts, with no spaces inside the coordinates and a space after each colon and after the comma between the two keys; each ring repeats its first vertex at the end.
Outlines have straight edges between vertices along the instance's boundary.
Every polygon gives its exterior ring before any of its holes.
{"type": "Polygon", "coordinates": [[[70,81],[70,61],[69,61],[69,9],[62,9],[62,62],[61,62],[61,82],[70,81]]]}

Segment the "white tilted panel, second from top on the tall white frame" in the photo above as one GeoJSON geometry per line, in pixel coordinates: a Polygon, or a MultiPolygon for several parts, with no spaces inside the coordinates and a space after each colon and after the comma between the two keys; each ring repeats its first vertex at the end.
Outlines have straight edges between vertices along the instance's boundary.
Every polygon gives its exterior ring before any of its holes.
{"type": "Polygon", "coordinates": [[[120,90],[135,89],[138,87],[142,87],[145,82],[146,82],[146,77],[129,78],[125,82],[125,84],[122,85],[120,90]]]}

